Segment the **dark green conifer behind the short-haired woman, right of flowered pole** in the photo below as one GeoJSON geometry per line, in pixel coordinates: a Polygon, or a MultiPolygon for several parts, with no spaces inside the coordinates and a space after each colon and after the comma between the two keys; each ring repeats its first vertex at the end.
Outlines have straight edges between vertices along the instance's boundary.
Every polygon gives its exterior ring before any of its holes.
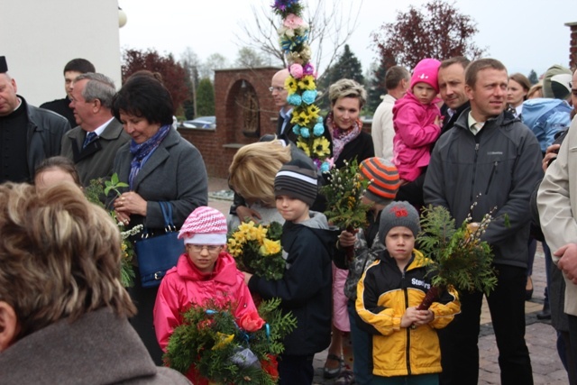
{"type": "Polygon", "coordinates": [[[322,92],[322,96],[317,105],[321,109],[328,110],[329,108],[328,87],[342,78],[350,78],[364,85],[361,61],[357,59],[348,44],[344,45],[343,53],[334,65],[326,69],[325,74],[318,79],[317,88],[322,92]]]}

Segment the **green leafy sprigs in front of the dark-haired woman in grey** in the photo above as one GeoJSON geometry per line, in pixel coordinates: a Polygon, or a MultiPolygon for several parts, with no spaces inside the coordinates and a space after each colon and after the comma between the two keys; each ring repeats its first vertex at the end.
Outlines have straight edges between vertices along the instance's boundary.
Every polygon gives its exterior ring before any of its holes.
{"type": "MultiPolygon", "coordinates": [[[[102,203],[101,197],[108,195],[110,190],[114,190],[118,196],[120,196],[120,191],[118,188],[128,187],[124,182],[118,180],[118,175],[114,173],[110,180],[103,179],[92,179],[90,180],[90,185],[85,188],[84,194],[88,201],[94,203],[97,206],[105,208],[102,203]]],[[[110,216],[113,217],[114,222],[118,225],[118,230],[120,231],[121,238],[121,248],[123,252],[123,258],[120,260],[120,279],[123,283],[124,288],[129,288],[133,286],[133,280],[136,276],[134,274],[133,268],[133,258],[134,258],[134,248],[133,243],[129,240],[129,237],[138,234],[142,231],[142,225],[136,225],[130,230],[126,230],[124,223],[116,219],[116,214],[114,210],[109,211],[110,216]]]]}

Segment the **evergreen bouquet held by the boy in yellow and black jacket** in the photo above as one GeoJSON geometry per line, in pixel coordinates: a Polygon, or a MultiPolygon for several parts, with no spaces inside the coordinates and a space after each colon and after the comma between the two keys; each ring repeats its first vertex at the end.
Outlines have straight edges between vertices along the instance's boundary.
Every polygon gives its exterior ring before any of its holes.
{"type": "MultiPolygon", "coordinates": [[[[457,228],[453,217],[443,206],[424,209],[417,244],[434,275],[431,289],[419,310],[430,307],[440,290],[449,287],[458,291],[482,291],[487,295],[495,289],[497,277],[491,266],[493,253],[489,243],[481,241],[481,235],[492,219],[491,213],[488,213],[480,223],[472,223],[469,215],[457,228]]],[[[507,216],[505,220],[507,224],[507,216]]]]}

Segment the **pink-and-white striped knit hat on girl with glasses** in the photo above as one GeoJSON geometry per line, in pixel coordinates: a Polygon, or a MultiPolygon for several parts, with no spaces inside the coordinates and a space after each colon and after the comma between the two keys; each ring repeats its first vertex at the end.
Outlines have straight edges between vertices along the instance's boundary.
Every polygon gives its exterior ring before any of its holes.
{"type": "Polygon", "coordinates": [[[200,206],[195,209],[179,232],[179,239],[192,244],[225,244],[226,218],[215,208],[200,206]]]}

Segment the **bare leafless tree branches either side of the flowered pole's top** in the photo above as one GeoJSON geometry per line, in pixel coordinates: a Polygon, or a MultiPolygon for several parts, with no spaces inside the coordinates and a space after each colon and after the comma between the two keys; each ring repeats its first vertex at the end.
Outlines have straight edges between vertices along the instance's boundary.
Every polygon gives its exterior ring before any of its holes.
{"type": "MultiPolygon", "coordinates": [[[[310,25],[308,43],[314,58],[311,61],[319,74],[324,71],[321,71],[321,65],[327,69],[333,64],[339,51],[356,29],[362,1],[303,1],[305,11],[301,17],[310,25]]],[[[239,37],[241,45],[260,50],[278,60],[279,65],[286,66],[287,61],[280,49],[277,33],[282,20],[270,10],[268,4],[261,7],[252,5],[252,14],[254,20],[241,23],[244,31],[243,36],[239,37]]]]}

